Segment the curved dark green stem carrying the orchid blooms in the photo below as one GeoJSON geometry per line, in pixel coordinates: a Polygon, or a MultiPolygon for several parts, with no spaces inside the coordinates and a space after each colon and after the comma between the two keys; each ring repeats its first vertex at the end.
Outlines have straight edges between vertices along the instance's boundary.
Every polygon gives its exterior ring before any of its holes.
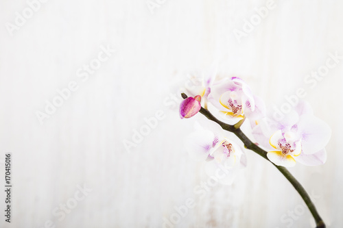
{"type": "MultiPolygon", "coordinates": [[[[186,94],[182,93],[181,95],[183,99],[187,98],[186,94]]],[[[270,162],[270,160],[267,157],[267,151],[261,149],[257,146],[257,144],[253,143],[248,137],[246,137],[246,135],[243,133],[243,131],[241,131],[240,128],[235,127],[235,125],[228,125],[222,121],[219,121],[217,118],[215,118],[215,116],[213,116],[213,114],[211,114],[211,112],[209,112],[209,110],[206,110],[203,107],[201,107],[199,112],[206,116],[206,118],[208,118],[209,120],[219,124],[220,127],[222,127],[222,129],[233,132],[233,134],[235,134],[244,143],[244,147],[246,147],[246,149],[254,151],[261,157],[265,158],[265,160],[268,160],[268,162],[270,162]]],[[[311,198],[309,198],[309,194],[307,194],[305,188],[301,186],[299,181],[297,181],[291,173],[289,173],[287,168],[283,166],[276,166],[276,164],[274,163],[272,164],[283,174],[283,176],[286,177],[286,179],[290,183],[292,183],[292,186],[300,194],[300,197],[303,198],[307,207],[309,207],[309,211],[311,212],[312,216],[314,216],[314,220],[316,220],[316,228],[325,228],[324,221],[322,220],[322,218],[320,218],[320,215],[318,214],[314,203],[312,203],[311,198]]]]}

